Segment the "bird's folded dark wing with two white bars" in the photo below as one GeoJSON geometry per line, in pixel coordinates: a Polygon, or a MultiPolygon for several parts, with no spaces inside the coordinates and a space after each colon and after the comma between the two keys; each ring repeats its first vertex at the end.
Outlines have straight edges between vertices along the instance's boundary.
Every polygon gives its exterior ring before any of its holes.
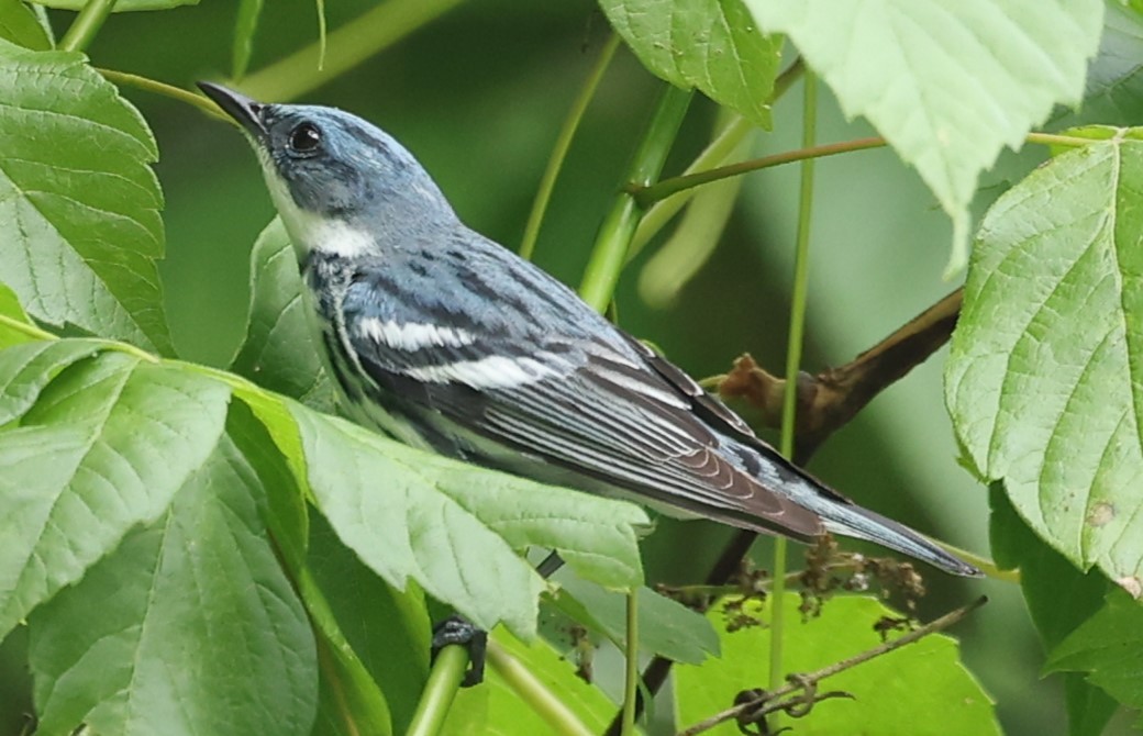
{"type": "Polygon", "coordinates": [[[521,345],[351,319],[353,352],[379,386],[471,432],[692,513],[799,538],[822,533],[817,514],[758,480],[781,482],[781,466],[760,467],[765,459],[724,441],[696,409],[750,434],[742,421],[664,378],[666,361],[653,367],[644,353],[601,341],[536,335],[521,345]]]}

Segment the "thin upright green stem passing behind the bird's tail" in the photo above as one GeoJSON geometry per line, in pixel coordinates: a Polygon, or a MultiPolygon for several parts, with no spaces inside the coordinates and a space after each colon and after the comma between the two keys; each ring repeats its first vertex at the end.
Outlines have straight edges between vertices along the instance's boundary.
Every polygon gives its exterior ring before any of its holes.
{"type": "MultiPolygon", "coordinates": [[[[804,149],[814,146],[817,137],[817,79],[806,74],[802,106],[804,149]]],[[[814,159],[801,163],[801,191],[798,201],[798,242],[794,250],[793,293],[790,297],[790,338],[786,345],[786,383],[782,397],[782,455],[793,457],[796,413],[798,408],[798,371],[806,331],[806,304],[809,301],[809,225],[814,207],[814,159]]],[[[774,601],[770,606],[770,689],[782,686],[782,635],[785,610],[786,539],[774,544],[774,601]]]]}

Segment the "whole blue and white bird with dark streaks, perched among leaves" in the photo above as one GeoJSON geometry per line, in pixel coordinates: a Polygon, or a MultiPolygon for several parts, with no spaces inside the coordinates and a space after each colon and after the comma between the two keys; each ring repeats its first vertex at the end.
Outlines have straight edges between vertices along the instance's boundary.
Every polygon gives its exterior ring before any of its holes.
{"type": "Polygon", "coordinates": [[[466,227],[373,125],[200,87],[262,162],[357,421],[671,515],[802,542],[831,531],[980,574],[788,462],[682,370],[466,227]]]}

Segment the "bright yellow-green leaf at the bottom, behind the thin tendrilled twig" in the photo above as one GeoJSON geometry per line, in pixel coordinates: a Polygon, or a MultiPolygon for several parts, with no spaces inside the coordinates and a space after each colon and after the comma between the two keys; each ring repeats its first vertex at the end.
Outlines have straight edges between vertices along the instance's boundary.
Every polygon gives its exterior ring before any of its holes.
{"type": "MultiPolygon", "coordinates": [[[[873,625],[886,616],[900,617],[876,599],[847,595],[828,601],[820,617],[798,623],[800,603],[797,593],[786,593],[782,662],[789,673],[813,672],[880,646],[873,625]]],[[[750,610],[768,619],[769,605],[768,599],[765,607],[756,605],[750,610]]],[[[720,607],[712,608],[708,616],[721,630],[720,607]]],[[[741,690],[768,687],[770,631],[753,626],[735,633],[720,631],[719,635],[724,653],[720,659],[674,669],[680,727],[730,707],[741,690]]],[[[957,640],[943,633],[828,678],[820,690],[850,693],[856,703],[817,703],[809,715],[797,721],[799,735],[1001,733],[991,698],[960,663],[957,640]]],[[[738,731],[732,721],[706,733],[729,736],[738,731]]]]}

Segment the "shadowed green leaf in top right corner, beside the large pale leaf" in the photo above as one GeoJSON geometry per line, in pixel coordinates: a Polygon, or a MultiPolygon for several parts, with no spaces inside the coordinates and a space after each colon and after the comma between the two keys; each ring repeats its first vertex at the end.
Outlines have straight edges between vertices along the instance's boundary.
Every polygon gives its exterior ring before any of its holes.
{"type": "Polygon", "coordinates": [[[1084,104],[1055,118],[1053,128],[1087,122],[1129,126],[1143,117],[1143,17],[1109,2],[1100,51],[1092,62],[1084,104]]]}

